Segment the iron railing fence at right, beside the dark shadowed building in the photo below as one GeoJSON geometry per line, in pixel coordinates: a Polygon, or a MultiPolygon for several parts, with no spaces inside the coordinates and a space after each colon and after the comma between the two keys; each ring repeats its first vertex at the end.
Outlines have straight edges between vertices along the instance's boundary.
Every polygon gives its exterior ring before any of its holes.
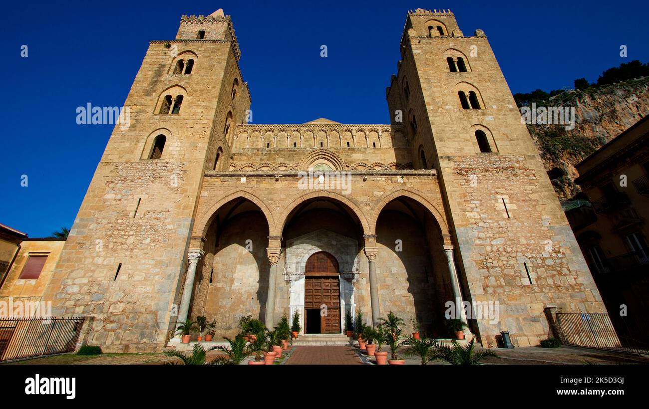
{"type": "Polygon", "coordinates": [[[618,336],[608,314],[557,313],[559,338],[564,345],[608,349],[630,353],[649,353],[649,344],[641,328],[618,336]]]}

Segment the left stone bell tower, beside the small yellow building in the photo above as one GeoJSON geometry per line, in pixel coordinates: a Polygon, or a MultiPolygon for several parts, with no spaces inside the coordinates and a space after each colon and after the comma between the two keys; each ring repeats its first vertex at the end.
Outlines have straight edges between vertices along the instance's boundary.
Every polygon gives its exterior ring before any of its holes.
{"type": "Polygon", "coordinates": [[[160,350],[184,320],[204,172],[227,166],[250,106],[240,55],[223,10],[182,16],[175,40],[150,42],[124,104],[130,121],[110,136],[47,294],[55,315],[93,317],[89,344],[160,350]]]}

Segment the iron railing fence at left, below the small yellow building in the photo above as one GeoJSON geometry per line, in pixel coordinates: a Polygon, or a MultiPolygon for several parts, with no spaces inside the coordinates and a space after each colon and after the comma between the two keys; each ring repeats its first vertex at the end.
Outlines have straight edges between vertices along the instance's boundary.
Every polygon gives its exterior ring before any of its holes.
{"type": "Polygon", "coordinates": [[[0,362],[74,351],[80,318],[0,318],[0,362]]]}

